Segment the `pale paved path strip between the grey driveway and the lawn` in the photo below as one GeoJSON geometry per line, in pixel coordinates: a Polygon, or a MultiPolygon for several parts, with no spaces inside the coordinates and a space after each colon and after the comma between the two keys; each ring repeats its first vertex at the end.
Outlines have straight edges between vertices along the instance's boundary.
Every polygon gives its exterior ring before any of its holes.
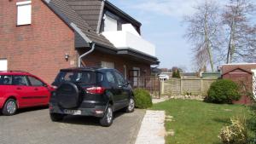
{"type": "Polygon", "coordinates": [[[165,111],[147,110],[136,144],[165,144],[165,111]]]}

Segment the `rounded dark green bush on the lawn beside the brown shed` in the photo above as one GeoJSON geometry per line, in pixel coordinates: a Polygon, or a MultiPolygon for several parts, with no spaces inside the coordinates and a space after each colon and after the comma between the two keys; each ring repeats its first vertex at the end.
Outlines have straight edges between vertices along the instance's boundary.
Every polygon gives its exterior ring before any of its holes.
{"type": "Polygon", "coordinates": [[[214,103],[232,103],[241,97],[238,85],[229,79],[220,79],[211,84],[207,101],[214,103]]]}

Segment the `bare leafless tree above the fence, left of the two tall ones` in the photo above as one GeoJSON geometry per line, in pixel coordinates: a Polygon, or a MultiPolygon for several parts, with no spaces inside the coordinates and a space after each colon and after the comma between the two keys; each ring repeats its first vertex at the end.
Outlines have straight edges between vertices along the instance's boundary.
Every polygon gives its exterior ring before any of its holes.
{"type": "Polygon", "coordinates": [[[218,45],[220,20],[219,6],[213,1],[205,1],[195,7],[195,14],[184,17],[184,22],[188,24],[185,37],[193,43],[192,50],[195,63],[199,69],[203,69],[210,64],[214,71],[213,50],[218,45]]]}

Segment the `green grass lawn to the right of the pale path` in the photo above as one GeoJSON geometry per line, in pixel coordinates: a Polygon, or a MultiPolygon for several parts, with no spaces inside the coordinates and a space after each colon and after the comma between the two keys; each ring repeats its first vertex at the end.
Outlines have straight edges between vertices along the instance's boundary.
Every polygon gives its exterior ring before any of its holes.
{"type": "Polygon", "coordinates": [[[170,100],[154,104],[153,110],[165,110],[173,120],[166,121],[166,144],[221,144],[218,134],[233,116],[248,117],[247,107],[218,105],[202,101],[170,100]]]}

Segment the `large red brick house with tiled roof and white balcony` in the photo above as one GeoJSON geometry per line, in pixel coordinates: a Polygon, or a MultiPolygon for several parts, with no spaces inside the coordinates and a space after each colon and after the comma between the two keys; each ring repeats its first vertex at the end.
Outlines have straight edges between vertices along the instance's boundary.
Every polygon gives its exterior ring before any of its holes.
{"type": "Polygon", "coordinates": [[[61,68],[116,68],[136,84],[158,65],[142,24],[105,0],[1,0],[0,71],[51,83],[61,68]]]}

